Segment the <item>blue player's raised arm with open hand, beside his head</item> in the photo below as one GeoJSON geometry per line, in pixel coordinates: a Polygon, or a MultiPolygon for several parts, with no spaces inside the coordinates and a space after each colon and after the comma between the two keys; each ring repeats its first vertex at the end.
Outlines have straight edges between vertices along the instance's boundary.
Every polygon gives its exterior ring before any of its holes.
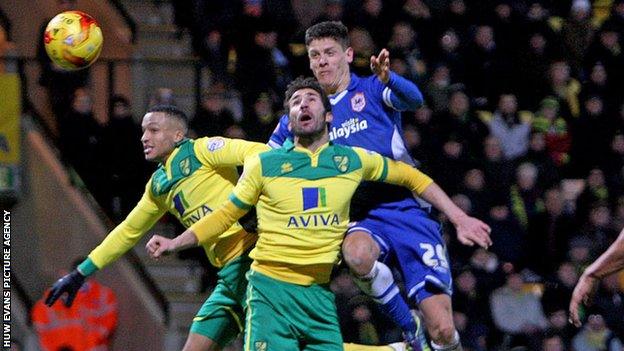
{"type": "Polygon", "coordinates": [[[423,95],[416,84],[390,70],[390,53],[383,49],[371,56],[371,71],[387,87],[382,92],[386,105],[399,111],[414,111],[423,104],[423,95]]]}

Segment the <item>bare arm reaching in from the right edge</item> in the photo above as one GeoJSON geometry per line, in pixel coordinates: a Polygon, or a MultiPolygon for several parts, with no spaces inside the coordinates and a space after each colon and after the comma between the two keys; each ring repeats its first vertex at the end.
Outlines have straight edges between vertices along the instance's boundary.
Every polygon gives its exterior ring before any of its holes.
{"type": "Polygon", "coordinates": [[[585,268],[576,287],[574,287],[569,307],[570,322],[572,324],[577,327],[581,326],[581,318],[579,316],[581,303],[587,305],[591,302],[600,279],[621,269],[624,269],[624,229],[607,251],[589,267],[585,268]]]}

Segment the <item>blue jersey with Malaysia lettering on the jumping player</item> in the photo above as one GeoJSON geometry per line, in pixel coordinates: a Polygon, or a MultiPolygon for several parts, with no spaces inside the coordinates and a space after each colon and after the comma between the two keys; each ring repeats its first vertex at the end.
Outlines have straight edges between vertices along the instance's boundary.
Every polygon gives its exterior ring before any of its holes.
{"type": "MultiPolygon", "coordinates": [[[[414,110],[422,104],[418,88],[391,73],[388,86],[375,75],[358,77],[351,74],[346,90],[329,96],[334,119],[329,137],[335,143],[359,146],[388,158],[415,165],[403,140],[401,110],[414,110]],[[390,88],[394,86],[394,88],[390,88]]],[[[288,116],[284,115],[271,135],[269,145],[279,147],[292,138],[288,116]]],[[[351,216],[365,216],[369,210],[384,208],[429,208],[430,206],[405,188],[381,183],[364,183],[353,199],[351,216]]]]}

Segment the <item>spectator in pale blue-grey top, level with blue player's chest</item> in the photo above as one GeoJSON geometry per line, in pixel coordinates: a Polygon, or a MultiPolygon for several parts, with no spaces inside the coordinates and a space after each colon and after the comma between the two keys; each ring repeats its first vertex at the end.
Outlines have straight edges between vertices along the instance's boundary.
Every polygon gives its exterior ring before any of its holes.
{"type": "Polygon", "coordinates": [[[514,94],[502,94],[498,108],[489,121],[490,133],[501,142],[503,155],[514,160],[526,154],[529,149],[530,120],[521,118],[518,101],[514,94]]]}

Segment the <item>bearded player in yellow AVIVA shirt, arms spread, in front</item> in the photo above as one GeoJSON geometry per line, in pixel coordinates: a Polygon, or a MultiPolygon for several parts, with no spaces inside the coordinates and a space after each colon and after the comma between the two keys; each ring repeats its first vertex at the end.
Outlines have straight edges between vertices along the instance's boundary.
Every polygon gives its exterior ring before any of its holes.
{"type": "Polygon", "coordinates": [[[210,245],[254,204],[258,242],[248,273],[245,350],[341,350],[334,296],[327,283],[361,181],[408,187],[445,213],[462,233],[489,227],[467,216],[417,169],[367,150],[329,143],[331,105],[311,78],[286,92],[294,144],[248,158],[229,201],[182,235],[155,235],[153,257],[210,245]]]}

